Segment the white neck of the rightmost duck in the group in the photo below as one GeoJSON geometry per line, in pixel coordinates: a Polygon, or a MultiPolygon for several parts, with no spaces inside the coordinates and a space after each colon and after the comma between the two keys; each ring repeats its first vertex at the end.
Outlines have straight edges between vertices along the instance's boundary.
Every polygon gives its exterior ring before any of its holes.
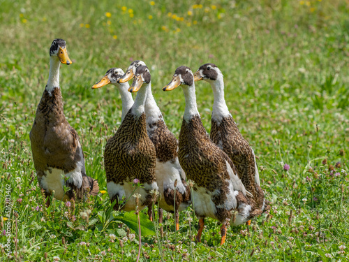
{"type": "Polygon", "coordinates": [[[214,106],[212,108],[212,119],[221,122],[223,117],[230,116],[228,106],[224,99],[224,81],[223,77],[218,75],[216,81],[209,81],[214,92],[214,106]]]}

